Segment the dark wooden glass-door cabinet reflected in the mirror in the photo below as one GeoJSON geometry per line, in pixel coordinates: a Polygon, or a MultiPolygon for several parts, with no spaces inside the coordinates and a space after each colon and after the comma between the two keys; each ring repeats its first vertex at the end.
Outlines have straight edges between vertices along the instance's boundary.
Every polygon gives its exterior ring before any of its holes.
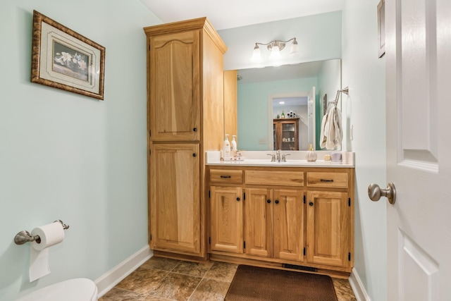
{"type": "Polygon", "coordinates": [[[299,118],[273,120],[273,149],[299,150],[299,118]]]}

